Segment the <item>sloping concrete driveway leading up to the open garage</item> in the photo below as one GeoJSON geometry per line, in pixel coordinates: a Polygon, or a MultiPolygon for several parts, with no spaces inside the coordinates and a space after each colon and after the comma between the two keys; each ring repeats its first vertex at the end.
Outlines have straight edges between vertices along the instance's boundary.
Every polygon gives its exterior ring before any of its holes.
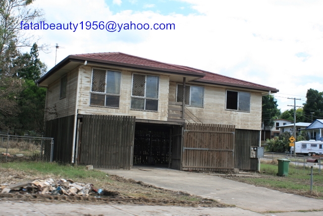
{"type": "Polygon", "coordinates": [[[255,187],[214,175],[153,166],[134,166],[131,170],[100,170],[157,187],[216,199],[222,203],[266,215],[274,215],[269,212],[277,212],[275,215],[323,215],[323,200],[255,187]],[[316,211],[300,212],[311,210],[316,211]]]}

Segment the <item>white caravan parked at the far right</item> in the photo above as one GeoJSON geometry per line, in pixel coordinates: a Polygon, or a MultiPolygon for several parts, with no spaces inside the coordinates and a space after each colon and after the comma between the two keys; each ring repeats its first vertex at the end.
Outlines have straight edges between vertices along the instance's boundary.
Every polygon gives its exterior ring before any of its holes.
{"type": "MultiPolygon", "coordinates": [[[[308,141],[298,141],[295,143],[296,154],[304,154],[308,156],[322,155],[323,154],[323,142],[308,140],[308,141]]],[[[291,152],[294,153],[294,147],[291,147],[291,152]]]]}

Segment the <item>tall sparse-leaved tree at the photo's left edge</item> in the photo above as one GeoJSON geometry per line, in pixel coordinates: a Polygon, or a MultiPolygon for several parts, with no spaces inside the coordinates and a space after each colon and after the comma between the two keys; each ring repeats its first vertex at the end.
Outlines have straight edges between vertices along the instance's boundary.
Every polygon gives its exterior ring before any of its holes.
{"type": "Polygon", "coordinates": [[[0,1],[0,128],[17,127],[16,121],[10,120],[19,115],[17,101],[24,89],[24,79],[15,76],[23,67],[15,61],[21,56],[19,47],[30,46],[34,39],[21,30],[20,22],[29,23],[42,16],[39,10],[31,7],[32,2],[0,1]]]}

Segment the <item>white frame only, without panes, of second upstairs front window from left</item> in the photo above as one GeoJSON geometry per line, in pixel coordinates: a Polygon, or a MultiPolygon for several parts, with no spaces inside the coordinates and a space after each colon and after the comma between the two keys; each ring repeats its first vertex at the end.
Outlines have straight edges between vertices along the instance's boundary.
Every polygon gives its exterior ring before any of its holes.
{"type": "Polygon", "coordinates": [[[131,77],[131,95],[130,95],[130,110],[137,110],[137,111],[144,111],[144,112],[158,112],[159,110],[159,92],[160,92],[160,76],[156,76],[156,75],[151,75],[151,74],[141,74],[141,73],[132,73],[132,77],[131,77]],[[140,75],[140,76],[145,76],[145,87],[144,87],[144,96],[136,96],[133,95],[133,79],[134,79],[134,75],[140,75]],[[152,97],[146,97],[146,90],[147,90],[147,76],[151,76],[151,77],[157,77],[158,78],[158,88],[157,88],[157,97],[156,98],[152,98],[152,97]],[[135,109],[132,108],[132,98],[139,98],[139,99],[144,99],[144,108],[142,109],[135,109]],[[157,101],[157,110],[146,110],[146,100],[156,100],[157,101]]]}

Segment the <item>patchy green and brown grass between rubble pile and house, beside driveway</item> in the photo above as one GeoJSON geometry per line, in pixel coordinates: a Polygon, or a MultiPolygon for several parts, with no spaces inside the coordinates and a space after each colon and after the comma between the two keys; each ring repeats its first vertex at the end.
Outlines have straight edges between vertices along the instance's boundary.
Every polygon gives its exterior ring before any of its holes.
{"type": "Polygon", "coordinates": [[[7,183],[12,185],[36,178],[52,178],[54,180],[64,178],[80,183],[91,183],[96,188],[118,192],[120,198],[113,200],[118,203],[227,207],[227,205],[216,200],[158,188],[116,175],[107,175],[98,170],[87,170],[85,166],[72,167],[70,165],[39,161],[0,163],[0,184],[7,183]]]}

